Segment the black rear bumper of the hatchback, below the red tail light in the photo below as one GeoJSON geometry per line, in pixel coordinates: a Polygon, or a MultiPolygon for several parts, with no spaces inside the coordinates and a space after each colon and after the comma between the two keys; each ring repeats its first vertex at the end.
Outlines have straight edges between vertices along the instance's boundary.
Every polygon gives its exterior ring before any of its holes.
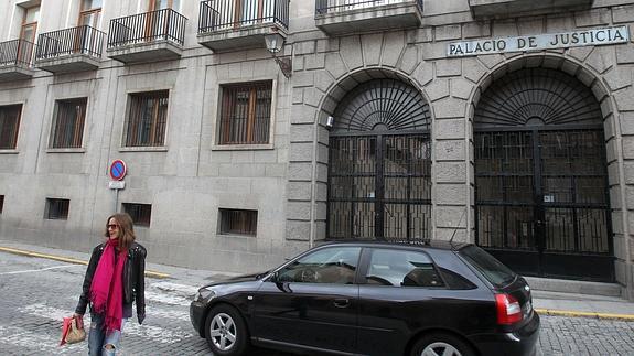
{"type": "Polygon", "coordinates": [[[481,355],[533,356],[537,354],[539,315],[534,313],[530,322],[513,333],[479,334],[469,339],[481,355]]]}

